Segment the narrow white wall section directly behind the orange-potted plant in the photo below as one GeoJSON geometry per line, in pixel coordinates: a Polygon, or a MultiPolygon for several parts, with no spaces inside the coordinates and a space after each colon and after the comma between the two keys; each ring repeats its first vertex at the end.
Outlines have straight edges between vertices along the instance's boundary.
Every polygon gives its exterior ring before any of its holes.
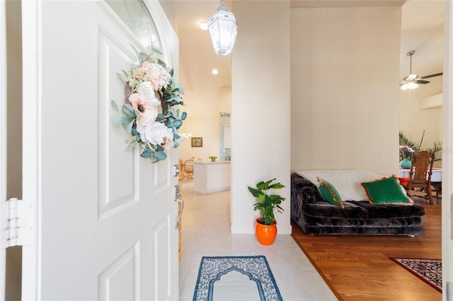
{"type": "Polygon", "coordinates": [[[275,177],[287,187],[277,228],[289,234],[289,1],[235,1],[233,12],[231,232],[254,233],[259,213],[247,186],[275,177]]]}

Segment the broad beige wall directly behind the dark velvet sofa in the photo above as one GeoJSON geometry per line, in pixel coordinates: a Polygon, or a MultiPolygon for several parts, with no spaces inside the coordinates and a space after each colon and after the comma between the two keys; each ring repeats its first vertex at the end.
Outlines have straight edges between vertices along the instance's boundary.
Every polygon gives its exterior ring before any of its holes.
{"type": "Polygon", "coordinates": [[[401,6],[291,11],[291,167],[398,170],[401,6]]]}

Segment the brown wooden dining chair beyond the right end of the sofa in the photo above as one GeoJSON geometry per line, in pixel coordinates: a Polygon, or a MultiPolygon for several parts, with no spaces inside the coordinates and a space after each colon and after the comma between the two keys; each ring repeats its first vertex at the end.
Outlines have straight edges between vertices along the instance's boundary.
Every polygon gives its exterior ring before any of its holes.
{"type": "Polygon", "coordinates": [[[410,196],[428,196],[432,205],[431,194],[431,175],[432,164],[434,163],[434,154],[427,151],[420,151],[412,156],[411,171],[409,172],[409,181],[407,184],[408,194],[410,196]],[[417,189],[416,188],[421,188],[417,189]]]}

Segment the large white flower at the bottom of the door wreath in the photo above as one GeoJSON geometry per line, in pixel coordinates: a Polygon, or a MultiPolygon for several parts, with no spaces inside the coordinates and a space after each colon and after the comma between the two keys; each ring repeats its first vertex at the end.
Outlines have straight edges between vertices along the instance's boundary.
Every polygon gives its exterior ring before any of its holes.
{"type": "Polygon", "coordinates": [[[142,141],[162,146],[165,150],[173,147],[173,129],[170,129],[160,122],[153,122],[147,126],[137,124],[137,131],[142,141]]]}

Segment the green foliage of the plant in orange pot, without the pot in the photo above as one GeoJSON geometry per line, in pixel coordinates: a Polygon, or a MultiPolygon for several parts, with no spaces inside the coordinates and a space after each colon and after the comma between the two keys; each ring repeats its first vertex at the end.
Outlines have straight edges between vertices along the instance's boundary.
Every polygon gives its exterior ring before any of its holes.
{"type": "Polygon", "coordinates": [[[278,194],[273,194],[273,192],[275,189],[284,188],[285,185],[280,184],[280,182],[274,183],[274,181],[275,179],[270,179],[267,182],[261,181],[256,184],[256,188],[248,187],[248,191],[256,198],[256,203],[253,204],[253,210],[260,211],[261,223],[263,225],[274,225],[274,209],[277,209],[280,213],[283,211],[280,203],[285,201],[285,198],[278,194]]]}

